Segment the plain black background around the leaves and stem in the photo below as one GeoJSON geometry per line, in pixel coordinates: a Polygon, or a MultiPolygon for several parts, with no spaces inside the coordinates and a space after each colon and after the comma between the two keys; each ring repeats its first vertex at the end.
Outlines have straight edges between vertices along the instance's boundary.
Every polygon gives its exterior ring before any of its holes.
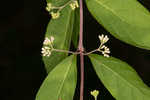
{"type": "MultiPolygon", "coordinates": [[[[139,1],[150,10],[149,0],[139,1]]],[[[46,26],[50,20],[45,6],[45,0],[10,0],[0,3],[0,100],[34,100],[46,77],[40,55],[46,26]]],[[[150,51],[115,39],[84,7],[84,46],[87,51],[97,48],[97,36],[102,33],[110,37],[108,46],[111,55],[133,66],[150,86],[150,51]]],[[[86,57],[85,100],[92,99],[90,91],[94,89],[100,90],[98,99],[114,100],[97,78],[86,57]]],[[[76,91],[78,90],[79,88],[76,91]]],[[[74,100],[79,100],[78,97],[79,92],[76,92],[74,100]]]]}

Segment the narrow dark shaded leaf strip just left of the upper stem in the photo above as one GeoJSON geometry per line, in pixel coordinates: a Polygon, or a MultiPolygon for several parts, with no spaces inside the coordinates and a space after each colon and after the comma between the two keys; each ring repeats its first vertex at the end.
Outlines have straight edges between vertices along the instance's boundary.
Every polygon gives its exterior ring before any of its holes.
{"type": "Polygon", "coordinates": [[[77,48],[78,46],[78,36],[80,31],[80,9],[75,10],[74,16],[74,25],[73,25],[73,34],[72,34],[72,42],[74,46],[77,48]]]}

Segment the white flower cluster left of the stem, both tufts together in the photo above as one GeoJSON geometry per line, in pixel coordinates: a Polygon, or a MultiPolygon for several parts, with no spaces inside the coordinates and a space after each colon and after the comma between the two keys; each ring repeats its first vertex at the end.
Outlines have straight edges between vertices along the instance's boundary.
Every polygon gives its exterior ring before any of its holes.
{"type": "Polygon", "coordinates": [[[53,41],[54,37],[51,36],[50,39],[48,37],[45,38],[43,45],[44,47],[42,48],[42,55],[49,57],[51,55],[51,52],[53,50],[53,41]]]}

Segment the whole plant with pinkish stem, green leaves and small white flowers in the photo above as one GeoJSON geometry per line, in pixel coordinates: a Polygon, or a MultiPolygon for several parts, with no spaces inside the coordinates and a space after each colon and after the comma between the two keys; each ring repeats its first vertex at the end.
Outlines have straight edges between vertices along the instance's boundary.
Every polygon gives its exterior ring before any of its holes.
{"type": "MultiPolygon", "coordinates": [[[[137,0],[85,0],[93,17],[117,39],[150,50],[150,13],[137,0]]],[[[80,98],[84,100],[84,56],[116,100],[150,100],[150,88],[127,63],[111,57],[107,35],[100,34],[99,47],[86,52],[83,46],[83,0],[47,0],[51,15],[41,49],[48,73],[36,100],[73,100],[80,55],[80,98]],[[78,38],[79,37],[79,38],[78,38]],[[70,51],[71,41],[77,48],[70,51]],[[93,54],[100,52],[102,55],[93,54]],[[69,55],[68,55],[69,54],[69,55]]],[[[98,90],[91,91],[97,100],[98,90]]]]}

